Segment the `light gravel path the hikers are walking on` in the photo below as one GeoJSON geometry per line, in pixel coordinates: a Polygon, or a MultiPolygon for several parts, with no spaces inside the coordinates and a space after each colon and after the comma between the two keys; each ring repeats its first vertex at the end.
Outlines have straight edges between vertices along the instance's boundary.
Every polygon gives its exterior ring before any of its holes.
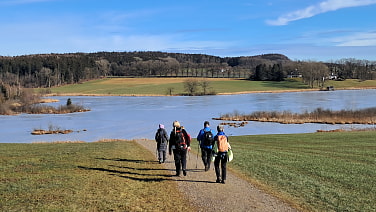
{"type": "MultiPolygon", "coordinates": [[[[155,154],[155,142],[140,140],[138,143],[155,154]]],[[[165,167],[175,175],[173,156],[168,156],[165,167]]],[[[227,173],[226,184],[215,183],[214,165],[205,172],[200,156],[197,160],[196,154],[187,155],[187,170],[187,176],[173,179],[198,211],[297,211],[231,172],[227,173]]]]}

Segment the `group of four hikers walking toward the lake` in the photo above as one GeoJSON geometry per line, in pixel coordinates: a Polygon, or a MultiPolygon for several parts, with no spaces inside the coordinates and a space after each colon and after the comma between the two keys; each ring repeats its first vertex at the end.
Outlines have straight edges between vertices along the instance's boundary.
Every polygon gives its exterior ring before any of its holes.
{"type": "MultiPolygon", "coordinates": [[[[169,155],[174,155],[176,176],[187,175],[187,152],[191,150],[191,136],[178,121],[172,123],[172,130],[168,136],[164,125],[160,124],[155,134],[157,142],[157,157],[159,163],[166,161],[167,150],[169,155]]],[[[222,125],[217,126],[217,133],[210,128],[208,121],[204,122],[204,128],[197,135],[198,145],[201,149],[201,159],[205,171],[210,170],[214,161],[214,169],[217,183],[226,181],[226,164],[232,160],[231,146],[222,125]]],[[[197,159],[198,160],[198,153],[197,159]]],[[[197,161],[196,161],[197,162],[197,161]]],[[[197,163],[196,163],[197,168],[197,163]]]]}

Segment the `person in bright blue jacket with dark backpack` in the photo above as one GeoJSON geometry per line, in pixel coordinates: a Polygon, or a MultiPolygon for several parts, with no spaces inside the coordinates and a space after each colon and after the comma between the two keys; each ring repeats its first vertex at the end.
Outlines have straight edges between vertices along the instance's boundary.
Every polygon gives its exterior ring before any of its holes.
{"type": "Polygon", "coordinates": [[[214,145],[214,131],[210,129],[210,123],[204,122],[204,128],[197,135],[197,141],[201,148],[202,162],[204,162],[205,171],[210,169],[212,150],[214,145]]]}

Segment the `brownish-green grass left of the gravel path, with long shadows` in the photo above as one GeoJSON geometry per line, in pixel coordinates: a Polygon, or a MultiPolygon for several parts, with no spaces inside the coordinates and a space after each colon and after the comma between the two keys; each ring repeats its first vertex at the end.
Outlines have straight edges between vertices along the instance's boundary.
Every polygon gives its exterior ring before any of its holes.
{"type": "Polygon", "coordinates": [[[133,141],[1,144],[0,182],[0,211],[194,210],[133,141]]]}

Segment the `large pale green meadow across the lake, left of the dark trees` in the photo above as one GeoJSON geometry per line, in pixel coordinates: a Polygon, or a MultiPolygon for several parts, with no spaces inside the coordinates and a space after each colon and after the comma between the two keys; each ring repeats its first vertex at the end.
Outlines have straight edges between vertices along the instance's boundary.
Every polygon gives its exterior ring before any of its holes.
{"type": "MultiPolygon", "coordinates": [[[[84,82],[81,84],[65,85],[51,88],[52,93],[65,94],[96,94],[96,95],[166,95],[169,88],[173,89],[172,94],[184,94],[184,86],[181,78],[174,81],[174,78],[153,78],[155,82],[142,83],[145,78],[136,78],[136,81],[126,81],[123,83],[121,78],[101,79],[84,82]],[[179,81],[180,80],[180,81],[179,81]]],[[[198,81],[202,78],[197,78],[198,81]]],[[[208,79],[211,80],[211,79],[208,79]]],[[[287,80],[283,82],[261,82],[249,80],[228,80],[213,79],[210,81],[208,91],[215,93],[228,92],[252,92],[252,91],[278,91],[289,89],[306,89],[308,86],[296,80],[287,80]]],[[[201,89],[201,88],[200,88],[201,89]]]]}

